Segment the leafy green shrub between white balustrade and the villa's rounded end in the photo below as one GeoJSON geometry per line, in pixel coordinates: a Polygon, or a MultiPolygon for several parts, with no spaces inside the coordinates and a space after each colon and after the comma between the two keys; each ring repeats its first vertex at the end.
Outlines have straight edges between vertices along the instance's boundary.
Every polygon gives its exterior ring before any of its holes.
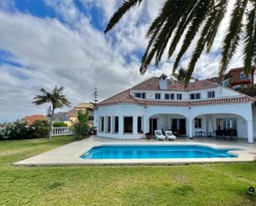
{"type": "Polygon", "coordinates": [[[75,139],[89,137],[92,132],[92,127],[89,126],[89,112],[82,113],[78,112],[77,122],[71,127],[72,131],[75,133],[75,139]]]}

